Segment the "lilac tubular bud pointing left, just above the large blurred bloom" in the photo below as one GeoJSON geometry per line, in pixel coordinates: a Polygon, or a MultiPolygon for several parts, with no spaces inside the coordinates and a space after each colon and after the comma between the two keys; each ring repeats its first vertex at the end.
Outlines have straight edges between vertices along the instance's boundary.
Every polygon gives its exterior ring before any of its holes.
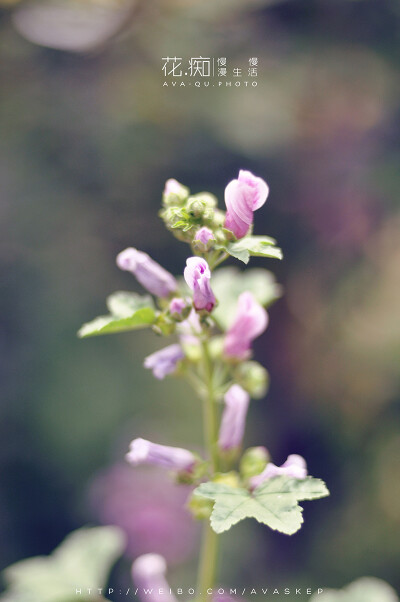
{"type": "Polygon", "coordinates": [[[187,449],[159,445],[147,439],[134,439],[129,446],[126,459],[133,466],[152,464],[185,472],[190,471],[196,463],[195,456],[187,449]]]}

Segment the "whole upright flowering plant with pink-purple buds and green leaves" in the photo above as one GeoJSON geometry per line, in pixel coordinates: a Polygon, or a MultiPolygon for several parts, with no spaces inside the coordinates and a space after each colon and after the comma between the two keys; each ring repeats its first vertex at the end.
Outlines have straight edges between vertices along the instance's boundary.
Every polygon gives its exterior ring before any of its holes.
{"type": "MultiPolygon", "coordinates": [[[[301,456],[291,454],[276,466],[264,447],[241,449],[250,398],[263,397],[268,382],[266,370],[251,359],[251,347],[268,325],[265,307],[280,290],[264,270],[214,270],[230,256],[245,264],[251,256],[282,258],[274,239],[252,234],[254,212],[268,193],[264,180],[240,171],[225,189],[224,212],[213,195],[191,195],[168,180],[160,215],[191,247],[184,278],[176,279],[142,251],[122,251],[118,267],[150,294],[114,293],[107,300],[109,315],[79,331],[90,337],[148,327],[177,339],[145,358],[144,366],[157,379],[175,375],[193,387],[204,409],[205,455],[139,437],[126,459],[133,466],[162,466],[192,485],[188,507],[205,523],[198,573],[202,598],[214,585],[219,533],[250,517],[291,535],[303,522],[299,502],[329,494],[323,481],[307,475],[301,456]]],[[[164,560],[150,554],[135,561],[133,578],[157,588],[165,582],[165,570],[164,560]]]]}

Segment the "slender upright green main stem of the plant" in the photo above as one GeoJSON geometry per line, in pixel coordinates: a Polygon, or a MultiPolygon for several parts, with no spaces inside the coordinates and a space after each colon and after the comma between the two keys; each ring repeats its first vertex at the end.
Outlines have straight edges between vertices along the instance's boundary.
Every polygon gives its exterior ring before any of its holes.
{"type": "MultiPolygon", "coordinates": [[[[213,382],[213,364],[208,342],[202,342],[204,381],[207,394],[203,399],[203,421],[206,447],[211,459],[212,472],[218,470],[217,428],[215,416],[215,393],[213,382]]],[[[208,600],[207,590],[214,586],[218,553],[218,536],[207,521],[203,526],[203,541],[200,552],[197,591],[202,600],[208,600]]]]}

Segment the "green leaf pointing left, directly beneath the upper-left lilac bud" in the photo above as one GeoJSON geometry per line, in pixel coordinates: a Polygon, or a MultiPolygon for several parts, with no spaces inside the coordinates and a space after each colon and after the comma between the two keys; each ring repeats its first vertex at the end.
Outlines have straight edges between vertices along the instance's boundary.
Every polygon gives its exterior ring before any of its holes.
{"type": "Polygon", "coordinates": [[[110,315],[99,316],[84,324],[78,331],[80,338],[147,328],[157,318],[149,295],[118,291],[108,297],[107,306],[110,315]]]}

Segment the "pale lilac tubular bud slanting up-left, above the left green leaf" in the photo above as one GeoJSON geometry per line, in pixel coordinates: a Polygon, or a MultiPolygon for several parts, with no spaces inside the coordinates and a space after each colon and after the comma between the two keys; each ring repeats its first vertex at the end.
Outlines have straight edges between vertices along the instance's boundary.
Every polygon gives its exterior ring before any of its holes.
{"type": "Polygon", "coordinates": [[[178,284],[175,278],[155,262],[147,253],[132,247],[117,255],[117,266],[131,272],[140,284],[156,297],[168,297],[178,284]]]}

